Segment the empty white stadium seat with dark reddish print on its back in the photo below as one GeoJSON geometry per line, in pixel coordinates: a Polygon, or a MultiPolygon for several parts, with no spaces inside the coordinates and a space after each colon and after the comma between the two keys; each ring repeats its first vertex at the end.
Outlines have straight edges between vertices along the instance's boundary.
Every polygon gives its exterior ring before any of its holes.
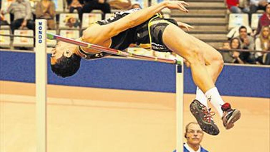
{"type": "Polygon", "coordinates": [[[59,18],[59,29],[79,29],[79,21],[77,13],[62,13],[59,18]]]}

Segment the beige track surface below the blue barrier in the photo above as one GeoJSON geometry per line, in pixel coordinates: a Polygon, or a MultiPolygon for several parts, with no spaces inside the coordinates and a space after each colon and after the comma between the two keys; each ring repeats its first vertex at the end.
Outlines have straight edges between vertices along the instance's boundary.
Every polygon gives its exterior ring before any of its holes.
{"type": "MultiPolygon", "coordinates": [[[[0,152],[35,152],[35,85],[0,81],[0,152]]],[[[184,124],[195,121],[184,95],[184,124]]],[[[48,152],[172,152],[175,94],[48,85],[48,152]]],[[[210,152],[269,152],[266,98],[223,96],[242,117],[221,133],[204,135],[210,152]]]]}

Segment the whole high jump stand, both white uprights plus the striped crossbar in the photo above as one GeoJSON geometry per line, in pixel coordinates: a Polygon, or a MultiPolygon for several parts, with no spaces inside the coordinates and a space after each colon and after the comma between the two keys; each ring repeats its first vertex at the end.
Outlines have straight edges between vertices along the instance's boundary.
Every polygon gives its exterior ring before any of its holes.
{"type": "Polygon", "coordinates": [[[115,49],[108,49],[99,45],[77,41],[52,33],[46,33],[47,21],[36,20],[36,123],[37,123],[37,152],[47,151],[47,122],[46,122],[46,85],[47,85],[47,53],[46,37],[51,40],[64,41],[74,45],[95,49],[115,55],[152,60],[169,64],[176,64],[176,150],[183,152],[183,60],[171,60],[148,57],[127,53],[115,49]],[[47,34],[47,35],[46,35],[47,34]]]}

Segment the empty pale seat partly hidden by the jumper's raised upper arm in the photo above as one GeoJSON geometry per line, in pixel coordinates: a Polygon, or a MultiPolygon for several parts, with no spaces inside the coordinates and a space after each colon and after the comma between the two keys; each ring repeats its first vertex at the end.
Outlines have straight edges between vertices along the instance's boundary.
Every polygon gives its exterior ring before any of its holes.
{"type": "Polygon", "coordinates": [[[91,23],[102,19],[102,15],[99,13],[83,13],[82,29],[86,29],[91,23]]]}

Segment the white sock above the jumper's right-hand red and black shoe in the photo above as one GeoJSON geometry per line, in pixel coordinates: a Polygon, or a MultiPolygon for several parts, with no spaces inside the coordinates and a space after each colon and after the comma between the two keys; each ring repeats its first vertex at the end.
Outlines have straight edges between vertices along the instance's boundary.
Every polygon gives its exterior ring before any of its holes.
{"type": "Polygon", "coordinates": [[[219,95],[218,89],[216,87],[209,89],[205,92],[206,98],[218,111],[220,118],[222,118],[223,111],[221,106],[225,103],[221,96],[219,95]]]}

